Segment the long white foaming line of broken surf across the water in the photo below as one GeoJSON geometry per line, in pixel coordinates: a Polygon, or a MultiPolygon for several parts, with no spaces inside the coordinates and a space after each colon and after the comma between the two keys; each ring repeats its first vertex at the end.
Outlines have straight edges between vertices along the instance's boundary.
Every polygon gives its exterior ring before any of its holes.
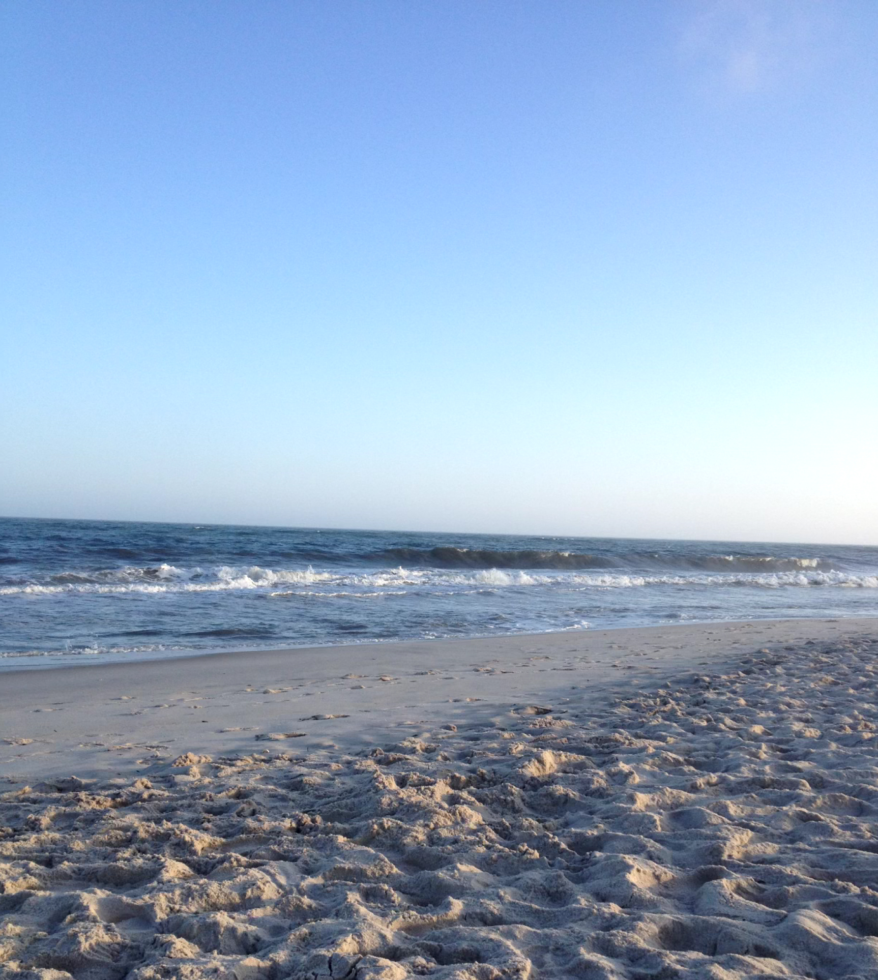
{"type": "MultiPolygon", "coordinates": [[[[786,560],[792,561],[792,560],[786,560]]],[[[805,560],[800,560],[805,561],[805,560]]],[[[758,565],[756,567],[759,567],[758,565]]],[[[651,573],[644,571],[599,571],[589,569],[544,568],[525,571],[520,568],[383,568],[371,572],[315,571],[314,568],[263,568],[260,565],[217,568],[178,568],[174,565],[126,566],[93,572],[67,572],[53,575],[43,582],[19,581],[0,587],[0,595],[61,594],[158,594],[167,592],[236,592],[261,591],[268,595],[295,594],[297,590],[321,586],[329,594],[355,590],[387,595],[407,589],[510,588],[544,586],[549,588],[637,588],[645,586],[695,586],[755,588],[836,586],[878,588],[878,575],[853,574],[821,570],[800,565],[792,570],[715,571],[686,573],[651,573]]],[[[771,569],[771,570],[769,570],[771,569]]]]}

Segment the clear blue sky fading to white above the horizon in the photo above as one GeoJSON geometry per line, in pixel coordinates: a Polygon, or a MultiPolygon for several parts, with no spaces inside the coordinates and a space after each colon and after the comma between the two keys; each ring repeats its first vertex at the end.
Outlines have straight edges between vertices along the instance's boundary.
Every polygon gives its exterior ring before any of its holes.
{"type": "Polygon", "coordinates": [[[873,0],[0,3],[0,514],[878,544],[873,0]]]}

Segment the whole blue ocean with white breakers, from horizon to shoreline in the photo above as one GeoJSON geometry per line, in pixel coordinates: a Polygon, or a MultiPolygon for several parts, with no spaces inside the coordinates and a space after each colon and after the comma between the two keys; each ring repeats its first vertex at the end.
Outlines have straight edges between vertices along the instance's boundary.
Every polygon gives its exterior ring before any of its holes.
{"type": "Polygon", "coordinates": [[[0,666],[878,613],[878,549],[0,519],[0,666]]]}

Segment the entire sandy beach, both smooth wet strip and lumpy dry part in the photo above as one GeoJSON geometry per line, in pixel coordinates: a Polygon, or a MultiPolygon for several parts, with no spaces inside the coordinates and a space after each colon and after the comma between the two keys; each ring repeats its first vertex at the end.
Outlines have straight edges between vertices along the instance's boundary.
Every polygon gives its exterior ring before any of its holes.
{"type": "Polygon", "coordinates": [[[871,980],[876,655],[791,620],[0,674],[0,976],[871,980]]]}

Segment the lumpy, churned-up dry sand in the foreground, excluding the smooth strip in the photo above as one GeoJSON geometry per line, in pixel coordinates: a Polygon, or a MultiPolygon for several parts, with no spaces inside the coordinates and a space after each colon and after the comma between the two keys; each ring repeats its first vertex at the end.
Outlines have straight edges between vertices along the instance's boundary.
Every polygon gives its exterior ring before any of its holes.
{"type": "Polygon", "coordinates": [[[760,652],[356,755],[19,788],[0,973],[878,976],[876,653],[760,652]]]}

